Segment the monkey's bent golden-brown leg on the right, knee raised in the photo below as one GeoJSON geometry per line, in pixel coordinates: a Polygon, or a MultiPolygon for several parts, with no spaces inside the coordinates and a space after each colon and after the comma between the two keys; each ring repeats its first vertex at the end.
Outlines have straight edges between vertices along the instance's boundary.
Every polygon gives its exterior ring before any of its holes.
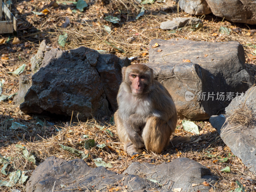
{"type": "Polygon", "coordinates": [[[166,121],[157,117],[149,117],[142,132],[147,151],[161,153],[169,144],[171,134],[172,128],[166,121]]]}

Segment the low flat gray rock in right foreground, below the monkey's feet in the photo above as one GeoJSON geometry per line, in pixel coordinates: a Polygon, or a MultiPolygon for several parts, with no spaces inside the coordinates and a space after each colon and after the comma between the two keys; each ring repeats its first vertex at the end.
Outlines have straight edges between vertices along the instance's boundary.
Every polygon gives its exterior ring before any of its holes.
{"type": "Polygon", "coordinates": [[[204,186],[203,182],[207,181],[214,186],[217,181],[208,168],[188,158],[177,158],[160,165],[134,162],[124,172],[144,174],[148,179],[162,184],[162,189],[166,190],[182,188],[182,191],[206,192],[211,186],[204,186]],[[198,185],[192,187],[191,183],[198,185]]]}

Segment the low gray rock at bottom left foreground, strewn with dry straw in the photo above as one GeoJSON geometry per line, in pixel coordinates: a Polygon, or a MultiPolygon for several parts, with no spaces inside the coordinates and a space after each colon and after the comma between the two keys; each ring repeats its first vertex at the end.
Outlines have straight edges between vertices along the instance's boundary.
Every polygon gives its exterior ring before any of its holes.
{"type": "Polygon", "coordinates": [[[136,175],[117,174],[102,166],[91,168],[81,159],[65,161],[49,157],[32,173],[26,192],[107,191],[108,186],[120,189],[127,186],[127,191],[159,188],[154,182],[136,175]]]}

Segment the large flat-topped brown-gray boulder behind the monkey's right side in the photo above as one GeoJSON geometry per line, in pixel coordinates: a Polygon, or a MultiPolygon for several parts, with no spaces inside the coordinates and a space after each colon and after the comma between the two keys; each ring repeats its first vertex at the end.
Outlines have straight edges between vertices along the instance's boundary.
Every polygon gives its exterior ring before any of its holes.
{"type": "Polygon", "coordinates": [[[244,65],[244,48],[238,42],[154,39],[150,47],[156,43],[159,46],[150,48],[147,65],[154,69],[154,77],[172,95],[181,118],[209,119],[232,100],[226,96],[222,100],[217,98],[217,94],[242,93],[253,84],[252,76],[244,65]],[[162,51],[157,52],[159,49],[162,51]],[[183,62],[186,60],[190,62],[183,62]],[[205,99],[201,97],[202,92],[205,99]],[[213,97],[210,97],[212,93],[213,97]]]}

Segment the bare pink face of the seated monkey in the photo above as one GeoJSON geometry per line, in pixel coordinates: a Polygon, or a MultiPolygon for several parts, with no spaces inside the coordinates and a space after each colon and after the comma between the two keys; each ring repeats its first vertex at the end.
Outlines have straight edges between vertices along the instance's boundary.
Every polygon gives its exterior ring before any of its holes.
{"type": "Polygon", "coordinates": [[[142,94],[144,85],[147,83],[147,77],[144,75],[131,74],[129,78],[132,82],[132,93],[142,94]]]}

